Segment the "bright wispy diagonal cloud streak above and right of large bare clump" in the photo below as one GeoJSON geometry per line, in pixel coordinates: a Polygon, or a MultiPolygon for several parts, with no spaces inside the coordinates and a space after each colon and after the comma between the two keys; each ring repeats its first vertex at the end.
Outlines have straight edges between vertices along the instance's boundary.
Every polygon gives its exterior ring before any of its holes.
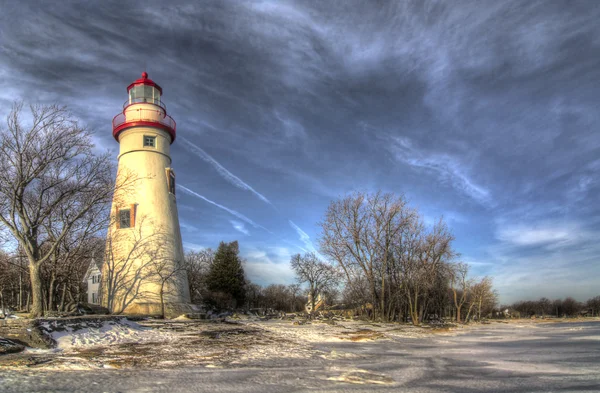
{"type": "Polygon", "coordinates": [[[416,168],[431,170],[443,180],[448,181],[452,187],[463,192],[475,201],[491,205],[490,192],[476,184],[469,176],[468,171],[461,163],[449,154],[428,153],[414,147],[407,138],[394,138],[392,150],[396,157],[416,168]]]}

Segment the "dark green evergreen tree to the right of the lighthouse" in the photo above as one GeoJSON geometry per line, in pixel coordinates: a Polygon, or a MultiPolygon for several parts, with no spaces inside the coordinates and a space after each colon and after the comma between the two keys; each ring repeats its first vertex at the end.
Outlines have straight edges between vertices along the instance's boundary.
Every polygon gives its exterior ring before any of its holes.
{"type": "Polygon", "coordinates": [[[208,272],[208,290],[219,307],[241,306],[246,298],[244,267],[237,241],[221,242],[208,272]]]}

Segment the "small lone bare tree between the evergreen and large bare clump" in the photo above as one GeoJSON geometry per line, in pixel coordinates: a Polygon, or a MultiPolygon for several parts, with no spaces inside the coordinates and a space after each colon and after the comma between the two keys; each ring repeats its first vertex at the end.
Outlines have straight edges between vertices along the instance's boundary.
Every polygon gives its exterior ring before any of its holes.
{"type": "Polygon", "coordinates": [[[337,283],[339,279],[338,272],[333,266],[320,261],[312,252],[304,255],[293,255],[290,264],[298,281],[308,283],[311,310],[314,310],[317,296],[337,283]]]}

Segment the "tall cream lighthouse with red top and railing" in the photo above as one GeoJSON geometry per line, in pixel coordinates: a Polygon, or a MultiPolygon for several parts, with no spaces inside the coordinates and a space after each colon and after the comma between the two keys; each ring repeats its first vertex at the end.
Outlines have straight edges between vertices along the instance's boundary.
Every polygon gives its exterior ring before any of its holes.
{"type": "Polygon", "coordinates": [[[100,294],[112,313],[172,316],[190,309],[170,151],[176,123],[162,93],[143,72],[112,122],[120,148],[100,294]]]}

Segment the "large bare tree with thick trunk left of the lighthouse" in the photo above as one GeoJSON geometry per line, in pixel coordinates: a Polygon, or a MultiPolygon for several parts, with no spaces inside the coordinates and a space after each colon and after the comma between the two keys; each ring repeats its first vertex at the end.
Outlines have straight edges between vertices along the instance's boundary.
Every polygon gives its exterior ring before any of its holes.
{"type": "Polygon", "coordinates": [[[29,127],[22,108],[15,104],[0,130],[0,222],[27,256],[31,315],[39,317],[44,311],[41,266],[74,227],[95,209],[108,208],[113,164],[108,153],[94,154],[91,132],[64,107],[31,106],[29,127]],[[57,217],[60,224],[53,222],[57,217]],[[58,225],[53,235],[51,225],[58,225]]]}

